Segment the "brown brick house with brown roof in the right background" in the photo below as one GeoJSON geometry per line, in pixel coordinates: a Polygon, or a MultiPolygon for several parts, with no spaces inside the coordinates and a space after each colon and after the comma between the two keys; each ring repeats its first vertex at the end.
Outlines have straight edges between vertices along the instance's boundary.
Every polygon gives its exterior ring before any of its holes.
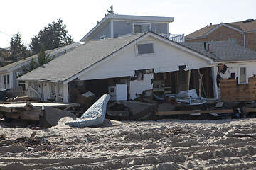
{"type": "Polygon", "coordinates": [[[231,41],[256,51],[256,20],[211,24],[186,35],[186,42],[231,41]]]}

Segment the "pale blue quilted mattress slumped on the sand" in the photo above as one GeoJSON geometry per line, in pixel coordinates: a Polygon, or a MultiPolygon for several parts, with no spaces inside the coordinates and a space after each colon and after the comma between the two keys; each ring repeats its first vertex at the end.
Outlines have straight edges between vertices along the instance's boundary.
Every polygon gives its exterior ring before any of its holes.
{"type": "Polygon", "coordinates": [[[107,102],[110,100],[109,94],[104,94],[90,108],[82,114],[81,118],[73,122],[67,122],[65,125],[73,127],[87,127],[100,125],[104,122],[106,115],[107,102]]]}

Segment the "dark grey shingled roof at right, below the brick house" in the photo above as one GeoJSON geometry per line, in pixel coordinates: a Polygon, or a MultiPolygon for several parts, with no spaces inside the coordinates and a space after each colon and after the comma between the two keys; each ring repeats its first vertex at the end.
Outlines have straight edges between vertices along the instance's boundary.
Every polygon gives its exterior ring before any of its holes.
{"type": "Polygon", "coordinates": [[[215,62],[256,60],[256,52],[230,41],[182,42],[180,44],[214,58],[215,62]],[[206,48],[209,45],[209,50],[204,49],[204,43],[206,48]]]}

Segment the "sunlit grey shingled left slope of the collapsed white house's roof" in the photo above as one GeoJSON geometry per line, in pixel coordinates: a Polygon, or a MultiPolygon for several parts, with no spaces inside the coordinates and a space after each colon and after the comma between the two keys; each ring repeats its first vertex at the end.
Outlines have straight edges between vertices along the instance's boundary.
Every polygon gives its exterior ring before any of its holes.
{"type": "Polygon", "coordinates": [[[105,40],[90,40],[76,50],[58,57],[57,59],[34,69],[28,74],[19,77],[18,80],[29,81],[55,81],[63,82],[70,77],[82,72],[84,69],[100,62],[122,47],[137,40],[143,34],[131,35],[121,38],[110,38],[105,40]]]}

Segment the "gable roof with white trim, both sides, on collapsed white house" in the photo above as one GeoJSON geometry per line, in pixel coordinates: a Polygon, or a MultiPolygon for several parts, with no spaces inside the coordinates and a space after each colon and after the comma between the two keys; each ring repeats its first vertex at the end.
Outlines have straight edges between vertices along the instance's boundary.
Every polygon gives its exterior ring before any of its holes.
{"type": "Polygon", "coordinates": [[[114,54],[122,52],[122,50],[126,49],[125,47],[130,47],[129,45],[134,45],[139,42],[139,40],[143,40],[142,38],[146,38],[146,36],[149,35],[170,43],[181,50],[186,50],[194,55],[197,55],[198,57],[202,57],[205,60],[210,62],[213,61],[206,55],[201,55],[200,53],[194,52],[183,45],[149,31],[143,34],[129,35],[119,38],[90,40],[72,52],[68,52],[61,57],[58,57],[58,59],[48,62],[48,64],[44,64],[42,67],[38,67],[37,69],[24,74],[22,77],[19,77],[18,80],[51,81],[63,82],[66,84],[68,81],[79,77],[80,74],[87,72],[93,67],[97,67],[97,64],[105,62],[105,60],[111,56],[114,56],[114,54]]]}

